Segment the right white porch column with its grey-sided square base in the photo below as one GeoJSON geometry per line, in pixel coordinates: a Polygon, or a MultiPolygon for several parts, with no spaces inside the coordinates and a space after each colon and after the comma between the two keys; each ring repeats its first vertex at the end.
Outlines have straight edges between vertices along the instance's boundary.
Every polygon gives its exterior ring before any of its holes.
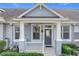
{"type": "Polygon", "coordinates": [[[57,23],[56,55],[61,55],[61,23],[57,23]]]}

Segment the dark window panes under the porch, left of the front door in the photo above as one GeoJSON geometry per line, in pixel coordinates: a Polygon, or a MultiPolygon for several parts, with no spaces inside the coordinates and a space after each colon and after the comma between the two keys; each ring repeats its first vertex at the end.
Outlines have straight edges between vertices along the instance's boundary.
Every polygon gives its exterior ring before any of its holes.
{"type": "Polygon", "coordinates": [[[39,40],[40,39],[40,26],[34,25],[33,26],[33,40],[39,40]]]}

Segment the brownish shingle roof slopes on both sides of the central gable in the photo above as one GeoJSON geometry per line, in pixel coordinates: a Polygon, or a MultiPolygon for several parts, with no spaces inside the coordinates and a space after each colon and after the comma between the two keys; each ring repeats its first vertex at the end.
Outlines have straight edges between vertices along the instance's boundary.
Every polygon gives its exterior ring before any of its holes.
{"type": "MultiPolygon", "coordinates": [[[[4,17],[5,20],[11,20],[11,18],[17,18],[20,14],[25,12],[28,9],[14,8],[14,9],[4,9],[6,12],[0,14],[0,16],[4,17]]],[[[69,18],[69,20],[79,21],[79,9],[53,9],[59,14],[63,15],[65,18],[69,18]]]]}

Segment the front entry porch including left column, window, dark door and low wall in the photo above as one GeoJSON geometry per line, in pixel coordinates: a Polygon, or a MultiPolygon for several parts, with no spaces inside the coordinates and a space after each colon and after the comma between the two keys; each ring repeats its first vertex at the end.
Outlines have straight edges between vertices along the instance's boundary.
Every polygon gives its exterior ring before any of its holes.
{"type": "Polygon", "coordinates": [[[56,55],[57,25],[20,23],[20,52],[42,52],[45,55],[56,55]],[[23,34],[23,35],[22,35],[23,34]]]}

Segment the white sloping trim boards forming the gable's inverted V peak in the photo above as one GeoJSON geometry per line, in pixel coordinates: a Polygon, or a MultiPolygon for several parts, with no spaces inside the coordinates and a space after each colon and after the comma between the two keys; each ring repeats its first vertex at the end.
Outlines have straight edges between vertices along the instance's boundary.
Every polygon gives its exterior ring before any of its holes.
{"type": "Polygon", "coordinates": [[[22,13],[20,16],[18,16],[18,18],[21,18],[23,15],[29,13],[30,11],[32,11],[33,9],[37,8],[37,7],[40,7],[41,9],[41,6],[43,6],[44,8],[46,8],[48,11],[50,11],[51,13],[55,13],[56,15],[58,15],[60,18],[64,18],[64,16],[60,15],[58,12],[52,10],[52,9],[49,9],[47,6],[45,6],[44,4],[36,4],[33,8],[25,11],[24,13],[22,13]]]}

